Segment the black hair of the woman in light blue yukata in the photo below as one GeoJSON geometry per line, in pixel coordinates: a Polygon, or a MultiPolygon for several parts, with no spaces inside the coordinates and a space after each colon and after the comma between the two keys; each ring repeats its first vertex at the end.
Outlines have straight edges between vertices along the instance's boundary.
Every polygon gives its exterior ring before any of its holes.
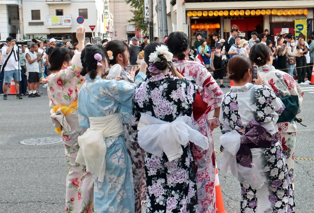
{"type": "Polygon", "coordinates": [[[97,75],[97,60],[94,58],[96,53],[102,56],[102,60],[108,60],[106,49],[99,45],[86,45],[81,54],[83,67],[80,74],[85,76],[89,72],[89,77],[93,80],[97,75]]]}

